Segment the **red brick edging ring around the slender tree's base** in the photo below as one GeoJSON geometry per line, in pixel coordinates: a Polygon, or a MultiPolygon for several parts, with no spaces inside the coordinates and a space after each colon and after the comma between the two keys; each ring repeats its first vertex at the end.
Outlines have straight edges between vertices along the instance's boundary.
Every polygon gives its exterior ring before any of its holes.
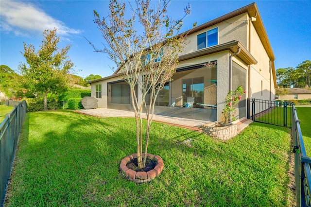
{"type": "MultiPolygon", "coordinates": [[[[144,153],[142,153],[141,156],[144,156],[144,153]]],[[[155,168],[148,172],[133,171],[132,169],[129,169],[128,167],[126,167],[126,164],[134,158],[137,158],[137,153],[124,157],[120,164],[120,170],[122,173],[126,175],[126,177],[129,178],[129,180],[135,183],[149,182],[152,179],[154,179],[156,176],[158,176],[163,170],[164,163],[163,163],[162,158],[159,155],[147,154],[147,158],[153,159],[157,162],[155,168]]]]}

